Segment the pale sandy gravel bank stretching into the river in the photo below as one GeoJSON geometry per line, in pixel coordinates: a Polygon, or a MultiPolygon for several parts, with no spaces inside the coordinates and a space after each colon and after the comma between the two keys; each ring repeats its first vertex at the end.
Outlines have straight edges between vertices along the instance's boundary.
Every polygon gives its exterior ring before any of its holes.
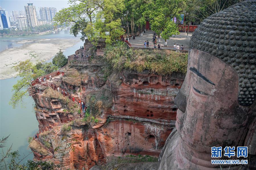
{"type": "Polygon", "coordinates": [[[25,39],[16,42],[21,47],[9,48],[1,51],[0,59],[0,79],[14,77],[17,72],[14,66],[19,62],[31,60],[32,63],[37,61],[44,62],[52,58],[58,51],[79,43],[80,39],[72,38],[53,38],[53,39],[25,39]]]}

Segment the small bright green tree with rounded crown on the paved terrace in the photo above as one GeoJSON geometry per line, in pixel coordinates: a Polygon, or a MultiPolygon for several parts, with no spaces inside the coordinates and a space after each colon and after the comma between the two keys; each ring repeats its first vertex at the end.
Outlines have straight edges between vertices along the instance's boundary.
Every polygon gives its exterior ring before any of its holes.
{"type": "Polygon", "coordinates": [[[167,46],[167,39],[169,39],[172,35],[179,34],[179,28],[177,24],[173,21],[168,21],[165,24],[164,30],[161,33],[162,38],[165,40],[165,46],[167,46]]]}

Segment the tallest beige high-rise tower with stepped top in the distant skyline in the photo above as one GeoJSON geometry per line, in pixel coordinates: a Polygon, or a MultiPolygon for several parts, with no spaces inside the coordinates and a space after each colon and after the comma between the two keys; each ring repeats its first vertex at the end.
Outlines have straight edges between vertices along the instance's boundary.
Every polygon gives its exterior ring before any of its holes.
{"type": "Polygon", "coordinates": [[[25,14],[28,22],[29,27],[37,27],[37,13],[36,13],[36,7],[33,6],[33,3],[28,3],[27,6],[24,6],[25,8],[25,14]]]}

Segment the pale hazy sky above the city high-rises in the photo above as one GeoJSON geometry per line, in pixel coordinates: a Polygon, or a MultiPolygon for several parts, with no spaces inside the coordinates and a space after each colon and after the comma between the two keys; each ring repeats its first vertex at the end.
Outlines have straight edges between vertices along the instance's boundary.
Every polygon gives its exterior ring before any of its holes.
{"type": "MultiPolygon", "coordinates": [[[[29,0],[0,0],[0,7],[8,12],[15,10],[19,11],[24,10],[24,6],[27,5],[27,3],[29,3],[29,0]]],[[[60,11],[62,8],[66,8],[69,6],[67,4],[67,0],[30,0],[30,3],[33,3],[33,5],[36,6],[36,11],[38,12],[38,7],[54,7],[57,9],[57,11],[60,11]]]]}

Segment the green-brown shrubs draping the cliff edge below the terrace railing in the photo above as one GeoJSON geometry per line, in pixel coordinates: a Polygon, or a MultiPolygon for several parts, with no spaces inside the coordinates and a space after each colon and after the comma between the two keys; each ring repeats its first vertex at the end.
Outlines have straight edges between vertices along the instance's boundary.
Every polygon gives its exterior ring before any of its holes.
{"type": "Polygon", "coordinates": [[[138,72],[149,70],[154,74],[172,74],[173,72],[187,72],[187,53],[158,49],[130,49],[123,42],[106,47],[104,60],[110,69],[131,69],[138,72]],[[122,58],[127,58],[124,64],[122,58]]]}

